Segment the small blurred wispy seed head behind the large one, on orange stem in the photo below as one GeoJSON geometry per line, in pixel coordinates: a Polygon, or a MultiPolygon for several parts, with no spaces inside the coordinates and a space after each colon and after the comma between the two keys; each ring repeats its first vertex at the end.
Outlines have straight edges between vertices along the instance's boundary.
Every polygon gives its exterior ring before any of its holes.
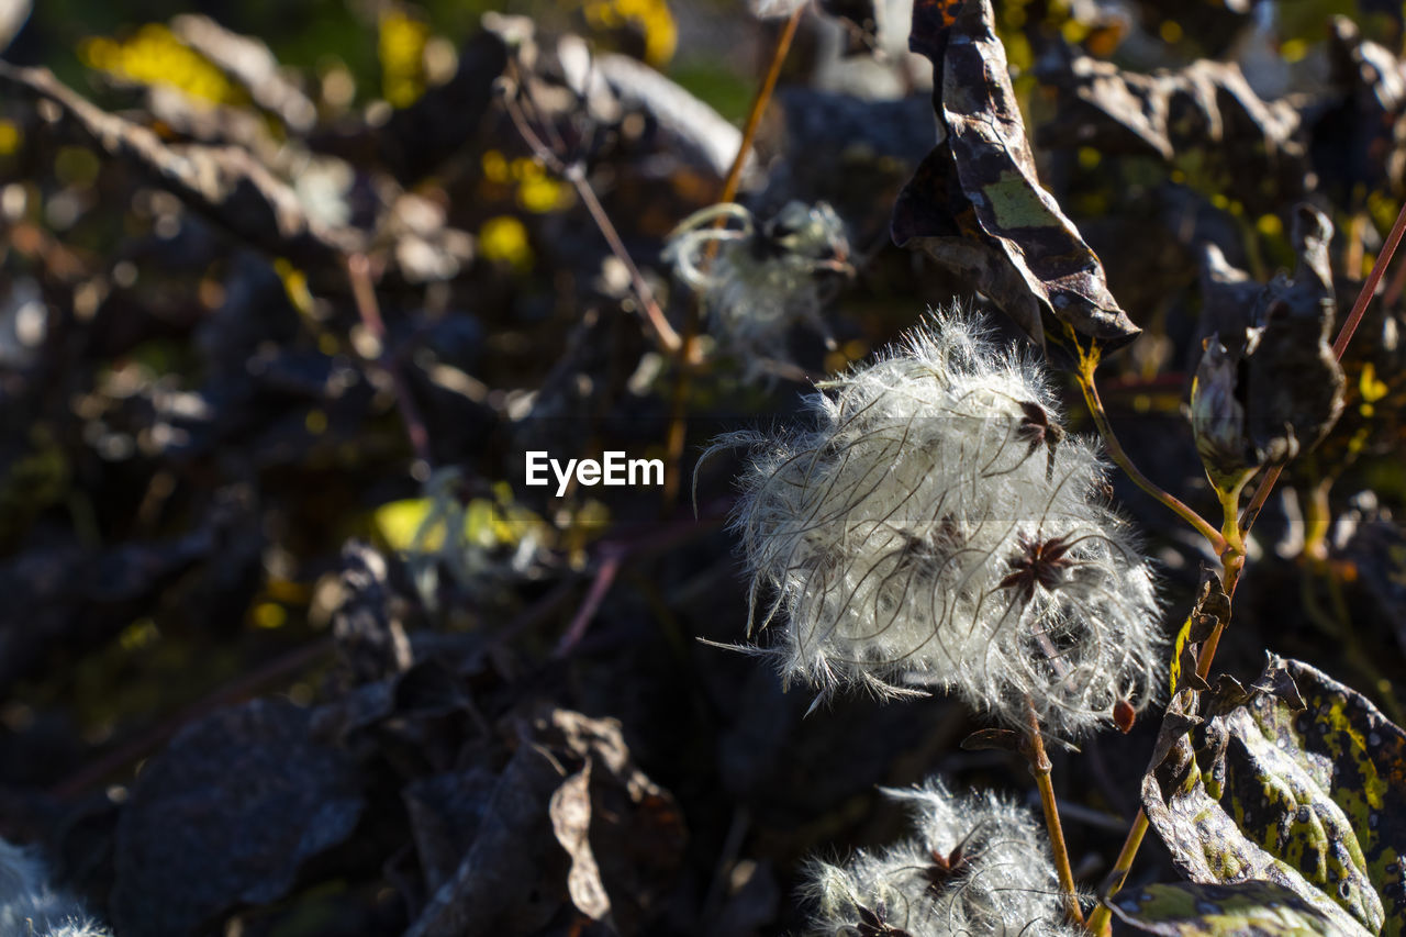
{"type": "Polygon", "coordinates": [[[787,362],[786,332],[806,322],[830,342],[820,317],[825,273],[845,273],[849,245],[839,215],[827,205],[787,203],[758,222],[742,205],[713,205],[686,218],[669,238],[665,257],[695,290],[709,332],[747,367],[768,371],[766,359],[787,362]],[[717,228],[720,219],[738,228],[717,228]],[[709,259],[707,252],[716,253],[709,259]]]}

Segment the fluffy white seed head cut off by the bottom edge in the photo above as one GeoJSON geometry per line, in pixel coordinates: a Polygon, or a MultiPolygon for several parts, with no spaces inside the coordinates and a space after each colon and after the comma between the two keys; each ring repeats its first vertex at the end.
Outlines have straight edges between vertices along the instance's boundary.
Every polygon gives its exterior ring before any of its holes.
{"type": "Polygon", "coordinates": [[[953,796],[941,781],[884,791],[907,801],[918,836],[845,865],[815,862],[810,933],[1064,937],[1049,848],[1028,810],[995,793],[953,796]]]}

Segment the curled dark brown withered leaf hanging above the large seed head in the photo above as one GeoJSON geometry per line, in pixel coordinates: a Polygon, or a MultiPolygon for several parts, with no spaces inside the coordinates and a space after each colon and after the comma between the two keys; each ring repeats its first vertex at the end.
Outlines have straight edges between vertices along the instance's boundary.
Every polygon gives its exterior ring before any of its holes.
{"type": "Polygon", "coordinates": [[[1098,256],[1039,181],[990,0],[918,0],[910,46],[932,60],[936,149],[904,187],[893,239],[966,277],[1036,342],[1135,339],[1098,256]]]}

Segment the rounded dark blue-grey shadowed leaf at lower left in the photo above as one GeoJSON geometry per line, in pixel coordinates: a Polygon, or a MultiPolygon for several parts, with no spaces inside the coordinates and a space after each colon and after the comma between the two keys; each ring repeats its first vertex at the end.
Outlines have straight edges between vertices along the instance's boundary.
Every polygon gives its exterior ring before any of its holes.
{"type": "Polygon", "coordinates": [[[309,713],[257,699],[181,732],[136,779],[117,829],[124,934],[191,934],[284,896],[364,806],[354,764],[309,739],[309,713]]]}

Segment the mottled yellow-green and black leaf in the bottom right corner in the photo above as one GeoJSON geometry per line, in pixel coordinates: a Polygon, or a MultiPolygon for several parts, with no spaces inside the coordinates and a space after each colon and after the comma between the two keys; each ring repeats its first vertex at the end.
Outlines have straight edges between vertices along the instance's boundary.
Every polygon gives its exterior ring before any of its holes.
{"type": "Polygon", "coordinates": [[[1202,716],[1143,779],[1177,867],[1199,884],[1274,882],[1330,933],[1402,933],[1406,733],[1361,694],[1278,657],[1249,689],[1222,680],[1202,716]]]}

